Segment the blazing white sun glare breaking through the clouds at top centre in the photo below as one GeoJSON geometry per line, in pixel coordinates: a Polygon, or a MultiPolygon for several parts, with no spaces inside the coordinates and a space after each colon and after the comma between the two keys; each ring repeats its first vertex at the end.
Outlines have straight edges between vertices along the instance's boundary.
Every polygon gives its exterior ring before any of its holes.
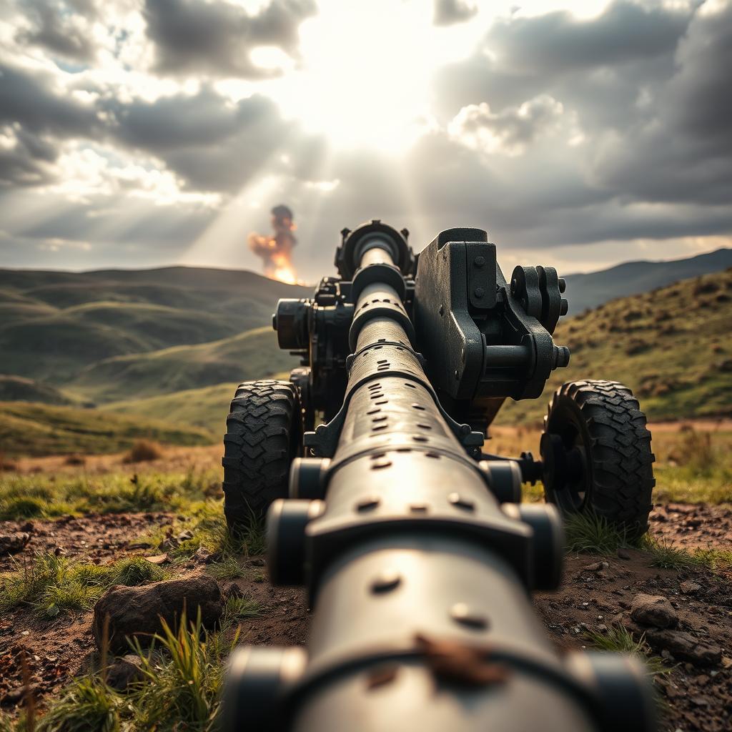
{"type": "Polygon", "coordinates": [[[300,29],[298,68],[273,96],[336,147],[404,149],[430,125],[430,78],[445,56],[436,34],[446,30],[419,2],[325,0],[300,29]]]}

